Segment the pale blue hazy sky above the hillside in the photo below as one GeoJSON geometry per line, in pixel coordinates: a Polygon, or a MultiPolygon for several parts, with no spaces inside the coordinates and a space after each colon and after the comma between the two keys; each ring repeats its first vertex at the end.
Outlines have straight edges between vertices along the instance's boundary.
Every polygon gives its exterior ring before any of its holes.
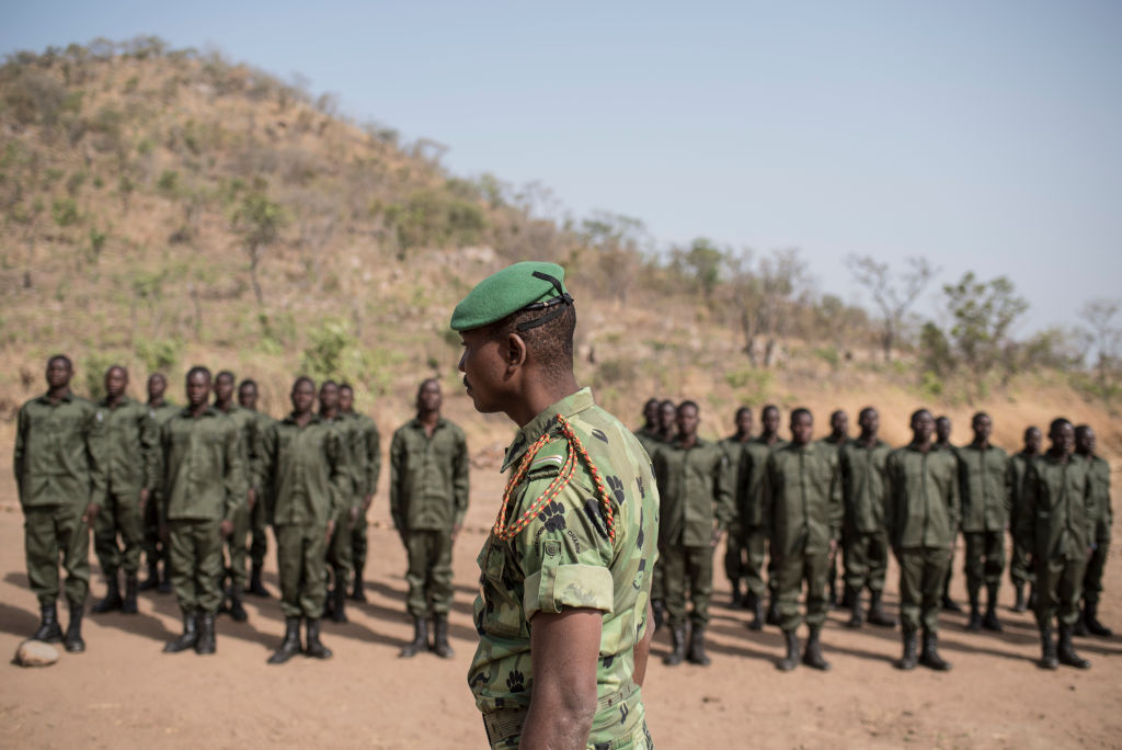
{"type": "MultiPolygon", "coordinates": [[[[3,0],[0,53],[154,34],[219,47],[465,176],[563,207],[843,258],[1006,274],[1021,332],[1122,296],[1122,2],[3,0]]],[[[938,295],[929,293],[921,311],[938,295]]]]}

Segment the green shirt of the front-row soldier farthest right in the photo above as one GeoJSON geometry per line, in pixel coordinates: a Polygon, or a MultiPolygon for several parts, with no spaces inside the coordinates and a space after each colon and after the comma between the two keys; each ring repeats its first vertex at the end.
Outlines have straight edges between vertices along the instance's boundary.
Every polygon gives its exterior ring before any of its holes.
{"type": "Polygon", "coordinates": [[[1051,451],[1029,466],[1019,523],[1022,545],[1038,561],[1086,557],[1096,518],[1089,474],[1088,461],[1072,456],[1064,463],[1051,451]]]}

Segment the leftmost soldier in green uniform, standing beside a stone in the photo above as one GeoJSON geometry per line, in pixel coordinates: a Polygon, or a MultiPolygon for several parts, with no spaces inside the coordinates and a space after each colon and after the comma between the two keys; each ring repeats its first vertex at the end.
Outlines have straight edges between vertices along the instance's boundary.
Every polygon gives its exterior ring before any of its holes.
{"type": "Polygon", "coordinates": [[[39,600],[37,641],[63,641],[67,651],[85,650],[82,611],[90,593],[90,523],[98,515],[93,497],[104,493],[99,466],[100,430],[94,406],[70,390],[70,357],[47,360],[47,392],[20,406],[13,468],[24,509],[27,578],[39,600]],[[55,602],[58,561],[66,570],[70,626],[63,635],[55,602]]]}

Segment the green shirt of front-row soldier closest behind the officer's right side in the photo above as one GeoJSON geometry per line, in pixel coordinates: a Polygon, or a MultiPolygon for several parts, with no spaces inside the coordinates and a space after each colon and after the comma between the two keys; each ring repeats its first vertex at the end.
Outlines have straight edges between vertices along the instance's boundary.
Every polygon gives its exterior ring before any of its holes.
{"type": "Polygon", "coordinates": [[[686,448],[674,441],[654,455],[659,482],[659,543],[709,547],[714,519],[725,529],[735,515],[732,467],[716,442],[697,438],[686,448]]]}

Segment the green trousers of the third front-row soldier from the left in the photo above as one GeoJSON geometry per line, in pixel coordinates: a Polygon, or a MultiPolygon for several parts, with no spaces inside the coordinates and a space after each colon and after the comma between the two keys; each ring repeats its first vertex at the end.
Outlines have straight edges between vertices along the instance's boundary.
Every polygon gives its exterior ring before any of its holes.
{"type": "Polygon", "coordinates": [[[280,575],[280,612],[286,618],[319,620],[328,601],[328,570],[323,567],[328,530],[321,525],[273,527],[280,575]]]}

